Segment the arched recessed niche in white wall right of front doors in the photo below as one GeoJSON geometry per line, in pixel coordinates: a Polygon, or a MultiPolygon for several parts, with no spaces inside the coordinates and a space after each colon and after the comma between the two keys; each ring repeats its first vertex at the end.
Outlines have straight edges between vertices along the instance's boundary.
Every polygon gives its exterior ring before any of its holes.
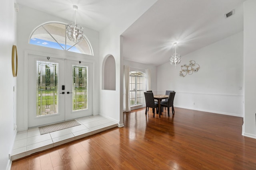
{"type": "Polygon", "coordinates": [[[107,55],[102,63],[102,89],[116,90],[116,61],[107,55]]]}

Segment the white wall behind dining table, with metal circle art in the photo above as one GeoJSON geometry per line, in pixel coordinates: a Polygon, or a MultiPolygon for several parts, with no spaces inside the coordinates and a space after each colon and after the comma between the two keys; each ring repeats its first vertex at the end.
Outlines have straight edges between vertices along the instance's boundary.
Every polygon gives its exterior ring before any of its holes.
{"type": "Polygon", "coordinates": [[[174,106],[243,117],[243,32],[184,55],[176,68],[162,64],[157,73],[159,93],[176,91],[174,106]],[[200,69],[180,77],[190,60],[200,69]]]}

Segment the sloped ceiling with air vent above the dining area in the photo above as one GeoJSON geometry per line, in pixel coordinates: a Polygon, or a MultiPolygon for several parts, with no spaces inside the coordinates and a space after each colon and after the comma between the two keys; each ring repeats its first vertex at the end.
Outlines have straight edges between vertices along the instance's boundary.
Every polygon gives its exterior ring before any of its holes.
{"type": "MultiPolygon", "coordinates": [[[[158,0],[122,35],[124,59],[160,65],[243,30],[244,0],[158,0]],[[230,18],[224,14],[235,10],[230,18]]],[[[207,57],[207,56],[206,56],[207,57]]]]}

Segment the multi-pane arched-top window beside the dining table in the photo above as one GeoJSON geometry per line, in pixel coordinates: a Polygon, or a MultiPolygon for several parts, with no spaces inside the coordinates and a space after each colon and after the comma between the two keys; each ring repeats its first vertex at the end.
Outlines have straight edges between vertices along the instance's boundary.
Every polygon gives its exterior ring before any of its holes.
{"type": "Polygon", "coordinates": [[[140,71],[130,72],[130,106],[145,103],[145,75],[140,71]]]}

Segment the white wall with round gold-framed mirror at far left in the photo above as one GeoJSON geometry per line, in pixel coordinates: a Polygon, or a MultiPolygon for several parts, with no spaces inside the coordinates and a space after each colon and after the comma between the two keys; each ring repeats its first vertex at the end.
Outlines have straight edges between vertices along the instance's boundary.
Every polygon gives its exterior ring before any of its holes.
{"type": "MultiPolygon", "coordinates": [[[[16,45],[17,37],[14,0],[1,1],[0,18],[0,169],[5,170],[16,135],[16,92],[13,92],[16,78],[12,76],[12,45],[16,45]]],[[[19,66],[20,63],[18,69],[19,66]]]]}

